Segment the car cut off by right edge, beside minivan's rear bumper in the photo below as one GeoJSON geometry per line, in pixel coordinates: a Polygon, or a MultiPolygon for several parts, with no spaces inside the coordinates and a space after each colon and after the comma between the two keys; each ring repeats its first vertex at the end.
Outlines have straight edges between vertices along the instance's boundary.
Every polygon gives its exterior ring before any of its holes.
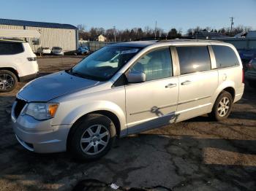
{"type": "Polygon", "coordinates": [[[256,87],[256,58],[253,58],[246,66],[245,78],[249,86],[256,87]]]}

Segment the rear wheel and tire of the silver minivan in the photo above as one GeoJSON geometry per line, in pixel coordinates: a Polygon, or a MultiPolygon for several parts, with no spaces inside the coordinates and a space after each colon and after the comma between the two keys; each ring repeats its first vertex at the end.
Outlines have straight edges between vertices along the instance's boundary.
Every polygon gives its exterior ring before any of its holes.
{"type": "Polygon", "coordinates": [[[233,107],[233,98],[227,91],[222,91],[214,103],[212,111],[208,114],[212,120],[220,121],[226,119],[233,107]],[[227,101],[228,100],[228,101],[227,101]],[[222,104],[221,104],[222,102],[222,104]],[[227,104],[224,104],[227,103],[227,104]],[[227,108],[228,107],[228,108],[227,108]]]}

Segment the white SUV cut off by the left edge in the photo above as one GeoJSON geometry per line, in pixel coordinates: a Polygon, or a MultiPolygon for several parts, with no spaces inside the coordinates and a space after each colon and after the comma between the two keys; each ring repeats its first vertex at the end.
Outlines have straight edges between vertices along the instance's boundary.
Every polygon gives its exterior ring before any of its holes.
{"type": "Polygon", "coordinates": [[[0,92],[37,76],[37,56],[28,42],[0,40],[0,92]]]}

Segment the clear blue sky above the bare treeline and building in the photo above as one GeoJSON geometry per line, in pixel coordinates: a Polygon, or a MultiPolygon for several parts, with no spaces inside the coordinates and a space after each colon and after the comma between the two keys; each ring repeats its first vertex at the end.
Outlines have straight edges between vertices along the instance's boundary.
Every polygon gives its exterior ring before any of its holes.
{"type": "Polygon", "coordinates": [[[2,0],[0,18],[82,24],[117,29],[149,26],[165,31],[251,26],[256,30],[256,0],[2,0]],[[4,8],[6,7],[6,8],[4,8]]]}

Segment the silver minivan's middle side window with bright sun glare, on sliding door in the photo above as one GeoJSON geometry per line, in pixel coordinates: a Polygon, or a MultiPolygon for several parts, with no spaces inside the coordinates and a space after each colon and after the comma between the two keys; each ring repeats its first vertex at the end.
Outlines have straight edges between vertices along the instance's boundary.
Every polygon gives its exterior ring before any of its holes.
{"type": "Polygon", "coordinates": [[[181,74],[211,70],[207,46],[176,47],[181,74]]]}

